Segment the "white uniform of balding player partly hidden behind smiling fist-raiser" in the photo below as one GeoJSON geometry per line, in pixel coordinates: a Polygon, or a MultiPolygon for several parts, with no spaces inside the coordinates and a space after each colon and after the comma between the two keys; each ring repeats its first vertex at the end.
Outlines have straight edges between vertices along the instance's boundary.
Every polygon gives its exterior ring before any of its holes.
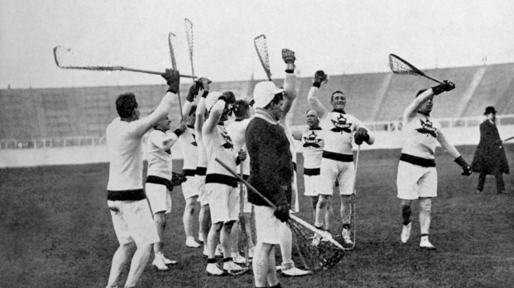
{"type": "Polygon", "coordinates": [[[305,129],[293,131],[293,137],[302,142],[304,147],[304,185],[305,196],[319,195],[319,179],[321,155],[323,154],[323,133],[319,129],[305,129]]]}

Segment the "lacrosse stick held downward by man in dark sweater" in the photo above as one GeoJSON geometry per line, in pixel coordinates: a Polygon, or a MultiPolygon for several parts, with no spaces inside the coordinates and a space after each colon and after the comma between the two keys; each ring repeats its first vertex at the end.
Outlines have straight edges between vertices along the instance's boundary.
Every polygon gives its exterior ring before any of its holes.
{"type": "MultiPolygon", "coordinates": [[[[276,209],[276,206],[264,195],[260,194],[257,189],[250,185],[245,179],[227,166],[219,158],[215,158],[218,163],[234,175],[239,181],[243,182],[248,189],[252,190],[255,194],[265,200],[271,209],[276,209]]],[[[324,237],[323,231],[315,228],[313,225],[308,224],[297,216],[290,214],[290,219],[287,220],[291,232],[295,235],[298,252],[308,269],[330,269],[334,267],[344,256],[343,246],[339,242],[332,239],[332,237],[324,237]],[[320,241],[319,245],[312,245],[313,233],[321,236],[326,241],[320,241]]]]}

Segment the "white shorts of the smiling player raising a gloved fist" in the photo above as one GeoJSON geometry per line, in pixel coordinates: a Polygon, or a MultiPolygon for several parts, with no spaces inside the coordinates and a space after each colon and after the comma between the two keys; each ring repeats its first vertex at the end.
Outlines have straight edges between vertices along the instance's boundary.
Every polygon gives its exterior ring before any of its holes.
{"type": "Polygon", "coordinates": [[[328,158],[321,159],[319,178],[319,194],[332,195],[336,179],[339,181],[339,194],[354,193],[355,165],[354,162],[336,161],[328,158]]]}

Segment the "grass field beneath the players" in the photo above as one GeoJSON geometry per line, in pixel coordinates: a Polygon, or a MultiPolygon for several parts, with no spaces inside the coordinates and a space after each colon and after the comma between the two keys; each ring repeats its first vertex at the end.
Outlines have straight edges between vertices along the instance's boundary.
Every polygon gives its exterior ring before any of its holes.
{"type": "MultiPolygon", "coordinates": [[[[472,160],[474,147],[458,149],[472,160]]],[[[506,150],[513,170],[514,145],[506,150]]],[[[439,197],[430,230],[437,250],[419,250],[417,203],[413,236],[401,244],[399,155],[399,150],[360,153],[356,248],[332,270],[281,276],[283,287],[514,287],[514,194],[496,195],[492,176],[485,193],[476,194],[478,176],[461,176],[461,168],[438,150],[439,197]]],[[[511,191],[513,175],[504,179],[511,191]]],[[[0,287],[105,287],[118,247],[106,205],[107,180],[108,164],[0,170],[0,287]]],[[[299,187],[303,192],[302,177],[299,187]]],[[[299,217],[312,222],[308,200],[300,200],[299,217]]],[[[339,199],[334,200],[339,211],[339,199]]],[[[164,252],[179,264],[156,272],[149,263],[139,287],[253,287],[251,273],[206,276],[201,249],[184,244],[183,207],[182,193],[175,189],[164,252]]],[[[339,232],[340,224],[334,226],[339,232]]]]}

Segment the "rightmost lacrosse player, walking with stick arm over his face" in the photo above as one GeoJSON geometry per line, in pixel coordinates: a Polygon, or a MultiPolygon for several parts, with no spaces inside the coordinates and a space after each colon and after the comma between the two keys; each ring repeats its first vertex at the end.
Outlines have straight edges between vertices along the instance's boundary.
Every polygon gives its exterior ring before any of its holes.
{"type": "Polygon", "coordinates": [[[446,140],[439,121],[430,116],[434,96],[455,88],[455,84],[451,81],[443,82],[444,84],[439,86],[420,90],[416,99],[404,110],[405,142],[396,179],[398,198],[402,200],[400,204],[403,218],[401,241],[406,243],[411,236],[411,205],[413,200],[419,199],[421,228],[419,246],[428,250],[435,249],[435,246],[428,241],[428,229],[432,198],[437,196],[437,170],[434,159],[437,142],[463,168],[463,175],[469,176],[472,173],[472,169],[461,154],[446,140]]]}

